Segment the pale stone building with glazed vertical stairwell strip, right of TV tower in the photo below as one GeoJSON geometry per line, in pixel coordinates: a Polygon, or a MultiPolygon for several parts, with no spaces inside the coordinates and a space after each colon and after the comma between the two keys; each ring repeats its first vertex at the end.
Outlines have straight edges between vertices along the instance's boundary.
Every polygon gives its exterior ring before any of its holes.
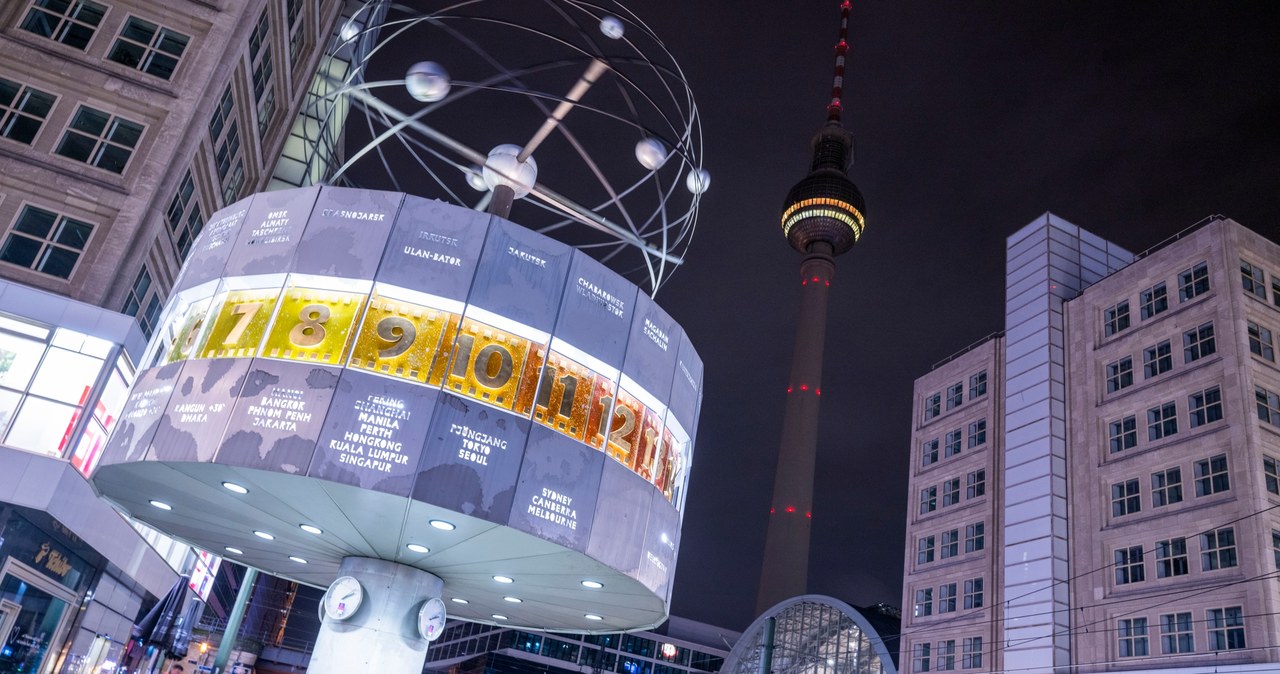
{"type": "Polygon", "coordinates": [[[916,381],[904,664],[1280,661],[1280,247],[1217,217],[1135,258],[1046,215],[1010,237],[1007,262],[1005,335],[916,381]],[[982,370],[1002,371],[989,393],[1002,405],[986,405],[998,428],[989,504],[970,505],[955,480],[978,459],[947,434],[972,416],[974,396],[959,393],[982,370]],[[957,542],[970,512],[995,522],[989,561],[957,542]],[[979,570],[996,579],[966,613],[960,587],[979,570]],[[948,657],[968,632],[984,637],[980,662],[948,657]]]}

